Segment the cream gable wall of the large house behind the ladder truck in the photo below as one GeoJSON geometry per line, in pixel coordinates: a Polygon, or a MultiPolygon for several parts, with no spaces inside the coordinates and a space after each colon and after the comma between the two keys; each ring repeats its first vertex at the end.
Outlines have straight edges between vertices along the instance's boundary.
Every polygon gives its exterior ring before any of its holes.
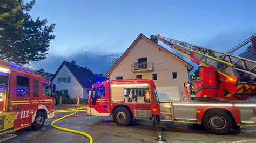
{"type": "Polygon", "coordinates": [[[142,75],[142,78],[153,79],[153,74],[157,74],[157,80],[154,81],[156,87],[174,86],[178,87],[179,92],[184,92],[183,83],[188,81],[187,67],[175,56],[160,50],[157,45],[152,44],[144,38],[141,38],[131,49],[119,65],[113,69],[110,74],[110,80],[117,76],[123,76],[123,79],[136,78],[136,75],[142,75]],[[138,61],[138,58],[147,57],[147,61],[153,62],[154,71],[149,73],[133,73],[131,64],[138,61]],[[177,72],[178,79],[172,78],[172,72],[177,72]]]}

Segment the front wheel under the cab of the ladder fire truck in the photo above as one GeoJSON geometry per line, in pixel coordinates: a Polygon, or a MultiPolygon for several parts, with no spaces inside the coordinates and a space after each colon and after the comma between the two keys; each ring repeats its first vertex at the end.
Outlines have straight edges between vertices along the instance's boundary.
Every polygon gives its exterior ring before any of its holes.
{"type": "Polygon", "coordinates": [[[123,107],[117,108],[114,110],[113,120],[118,126],[127,126],[131,121],[130,112],[123,107]]]}

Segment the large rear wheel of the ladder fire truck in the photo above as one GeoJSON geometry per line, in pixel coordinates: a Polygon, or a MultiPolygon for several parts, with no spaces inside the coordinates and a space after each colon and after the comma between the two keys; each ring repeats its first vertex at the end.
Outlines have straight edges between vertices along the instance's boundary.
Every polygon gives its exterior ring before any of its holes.
{"type": "Polygon", "coordinates": [[[225,111],[209,111],[203,118],[204,127],[213,134],[227,134],[231,131],[233,120],[225,111]]]}

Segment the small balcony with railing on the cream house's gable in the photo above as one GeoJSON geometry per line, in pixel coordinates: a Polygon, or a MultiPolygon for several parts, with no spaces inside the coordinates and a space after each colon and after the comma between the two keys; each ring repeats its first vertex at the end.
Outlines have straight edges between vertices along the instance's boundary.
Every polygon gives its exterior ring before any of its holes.
{"type": "Polygon", "coordinates": [[[143,62],[143,63],[134,62],[131,66],[132,66],[133,73],[146,73],[146,72],[152,72],[154,70],[152,62],[143,62]]]}

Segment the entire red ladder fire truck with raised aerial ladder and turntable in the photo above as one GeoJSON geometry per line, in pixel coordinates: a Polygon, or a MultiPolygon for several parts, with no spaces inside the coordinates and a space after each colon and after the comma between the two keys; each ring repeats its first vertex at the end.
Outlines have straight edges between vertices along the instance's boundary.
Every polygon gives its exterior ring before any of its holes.
{"type": "Polygon", "coordinates": [[[87,111],[90,115],[112,114],[114,122],[120,126],[129,125],[137,118],[153,118],[158,129],[160,120],[203,124],[214,134],[226,134],[232,129],[239,130],[240,126],[256,126],[256,104],[241,102],[256,96],[255,61],[161,35],[153,35],[151,39],[153,42],[161,40],[193,62],[204,65],[199,78],[192,81],[194,94],[190,83],[184,83],[186,96],[199,100],[159,102],[151,80],[104,81],[92,87],[87,111]]]}

